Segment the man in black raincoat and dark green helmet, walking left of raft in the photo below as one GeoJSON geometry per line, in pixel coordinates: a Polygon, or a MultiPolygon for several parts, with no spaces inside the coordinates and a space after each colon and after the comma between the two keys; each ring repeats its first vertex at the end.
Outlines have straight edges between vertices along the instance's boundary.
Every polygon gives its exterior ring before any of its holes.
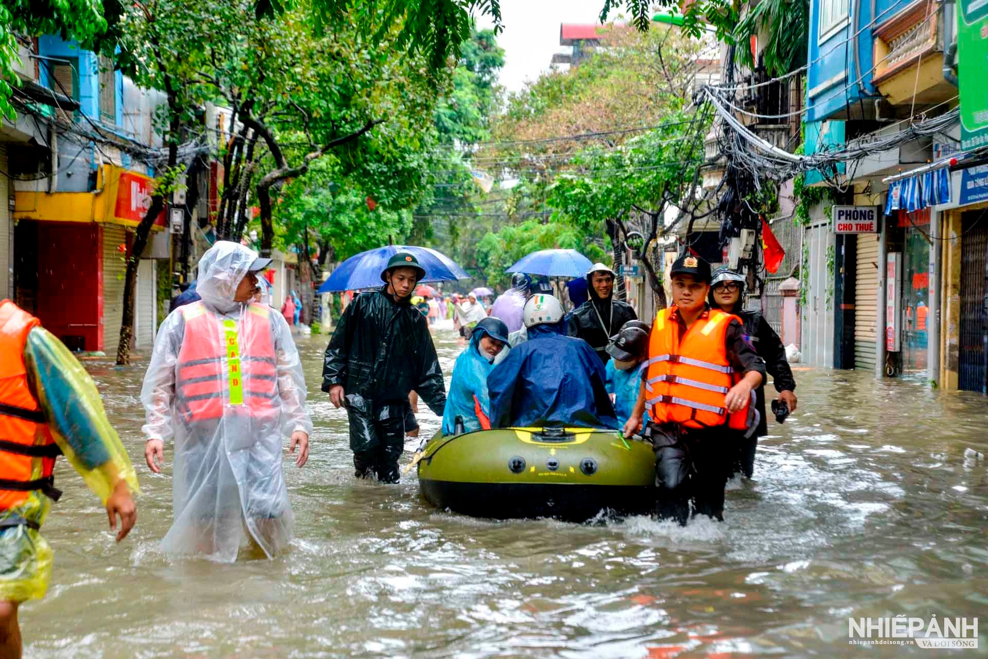
{"type": "Polygon", "coordinates": [[[354,299],[326,347],[322,391],[350,417],[357,477],[398,481],[408,393],[443,415],[446,385],[426,319],[412,306],[425,270],[411,254],[391,257],[380,290],[354,299]]]}

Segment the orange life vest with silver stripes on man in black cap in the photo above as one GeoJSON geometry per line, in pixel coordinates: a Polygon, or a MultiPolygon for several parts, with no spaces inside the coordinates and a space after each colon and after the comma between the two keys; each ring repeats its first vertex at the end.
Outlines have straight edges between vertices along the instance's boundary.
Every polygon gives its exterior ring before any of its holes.
{"type": "Polygon", "coordinates": [[[730,321],[741,319],[710,310],[680,337],[675,313],[675,306],[660,311],[649,337],[645,405],[652,420],[687,428],[757,426],[754,392],[740,411],[724,407],[724,395],[741,379],[727,359],[724,339],[730,321]]]}

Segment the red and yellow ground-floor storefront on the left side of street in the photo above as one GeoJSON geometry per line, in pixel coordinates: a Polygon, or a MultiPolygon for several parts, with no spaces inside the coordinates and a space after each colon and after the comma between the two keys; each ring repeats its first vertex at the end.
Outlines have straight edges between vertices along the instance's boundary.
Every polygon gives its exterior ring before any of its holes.
{"type": "MultiPolygon", "coordinates": [[[[15,301],[76,351],[114,352],[124,318],[126,255],[150,205],[150,179],[114,166],[95,192],[18,191],[14,219],[15,301]]],[[[165,214],[154,231],[165,227],[165,214]]],[[[150,348],[154,267],[138,268],[135,344],[150,348]],[[142,286],[142,283],[145,285],[142,286]],[[144,327],[141,327],[143,319],[144,327]],[[144,329],[141,331],[141,329],[144,329]]]]}

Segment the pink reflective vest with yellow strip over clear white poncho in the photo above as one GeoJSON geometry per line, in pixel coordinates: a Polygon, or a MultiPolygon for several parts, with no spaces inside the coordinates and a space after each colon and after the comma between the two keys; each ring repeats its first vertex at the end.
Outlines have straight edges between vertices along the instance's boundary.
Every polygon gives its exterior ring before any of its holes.
{"type": "Polygon", "coordinates": [[[186,423],[224,412],[277,415],[278,368],[269,307],[252,304],[239,321],[220,320],[202,302],[179,308],[185,319],[176,408],[186,423]],[[225,361],[224,361],[225,360],[225,361]]]}

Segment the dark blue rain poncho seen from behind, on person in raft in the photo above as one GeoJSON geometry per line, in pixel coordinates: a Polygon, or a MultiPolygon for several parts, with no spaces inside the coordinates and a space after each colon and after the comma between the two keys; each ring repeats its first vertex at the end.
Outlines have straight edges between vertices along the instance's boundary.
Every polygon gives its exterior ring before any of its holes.
{"type": "Polygon", "coordinates": [[[617,428],[604,364],[564,324],[535,325],[487,376],[491,426],[617,428]]]}

